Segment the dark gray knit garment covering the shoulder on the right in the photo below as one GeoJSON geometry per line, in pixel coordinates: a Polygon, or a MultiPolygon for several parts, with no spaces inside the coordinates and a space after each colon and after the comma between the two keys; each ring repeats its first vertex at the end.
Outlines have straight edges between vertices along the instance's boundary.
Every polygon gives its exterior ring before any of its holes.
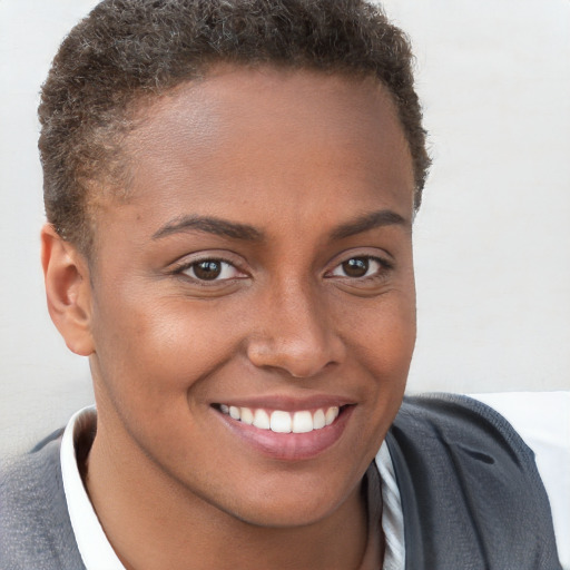
{"type": "Polygon", "coordinates": [[[560,568],[533,453],[499,413],[466,396],[406,397],[386,443],[413,568],[560,568]]]}

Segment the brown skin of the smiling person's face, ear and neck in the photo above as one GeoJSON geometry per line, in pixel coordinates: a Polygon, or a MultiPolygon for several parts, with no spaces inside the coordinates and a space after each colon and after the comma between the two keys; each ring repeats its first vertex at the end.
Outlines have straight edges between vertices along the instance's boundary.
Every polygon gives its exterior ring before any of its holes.
{"type": "Polygon", "coordinates": [[[379,568],[361,483],[415,341],[412,161],[390,97],[220,66],[144,112],[130,199],[100,202],[90,262],[42,234],[51,316],[90,358],[86,484],[111,544],[138,570],[379,568]],[[204,259],[218,278],[196,277],[204,259]],[[350,413],[308,459],[261,451],[216,407],[312,397],[350,413]]]}

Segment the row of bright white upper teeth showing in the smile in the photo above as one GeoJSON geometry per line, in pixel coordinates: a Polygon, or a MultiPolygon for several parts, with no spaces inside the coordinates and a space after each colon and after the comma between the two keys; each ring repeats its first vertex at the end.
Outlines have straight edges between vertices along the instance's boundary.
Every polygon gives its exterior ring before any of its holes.
{"type": "Polygon", "coordinates": [[[254,425],[259,430],[271,430],[278,433],[307,433],[313,430],[322,430],[331,425],[338,416],[338,406],[321,407],[315,412],[303,410],[299,412],[284,412],[274,410],[252,410],[250,407],[238,407],[235,405],[222,404],[220,411],[234,420],[254,425]]]}

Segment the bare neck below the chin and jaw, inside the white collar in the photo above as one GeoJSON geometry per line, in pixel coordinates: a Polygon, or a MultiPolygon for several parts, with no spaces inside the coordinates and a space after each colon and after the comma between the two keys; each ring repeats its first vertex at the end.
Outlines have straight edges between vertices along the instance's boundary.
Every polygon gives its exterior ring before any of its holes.
{"type": "MultiPolygon", "coordinates": [[[[109,433],[99,424],[86,487],[128,570],[364,568],[367,521],[360,487],[334,512],[311,524],[250,524],[197,497],[136,445],[120,445],[116,430],[109,433]]],[[[373,558],[371,568],[377,568],[373,558]]]]}

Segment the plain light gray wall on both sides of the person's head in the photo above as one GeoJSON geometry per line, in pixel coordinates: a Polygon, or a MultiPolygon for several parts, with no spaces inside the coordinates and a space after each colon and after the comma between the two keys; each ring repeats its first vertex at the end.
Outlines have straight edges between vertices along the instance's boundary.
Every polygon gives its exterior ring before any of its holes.
{"type": "MultiPolygon", "coordinates": [[[[0,0],[0,452],[92,401],[45,308],[38,91],[92,0],[0,0]]],[[[410,390],[570,390],[570,1],[386,0],[434,167],[410,390]]]]}

